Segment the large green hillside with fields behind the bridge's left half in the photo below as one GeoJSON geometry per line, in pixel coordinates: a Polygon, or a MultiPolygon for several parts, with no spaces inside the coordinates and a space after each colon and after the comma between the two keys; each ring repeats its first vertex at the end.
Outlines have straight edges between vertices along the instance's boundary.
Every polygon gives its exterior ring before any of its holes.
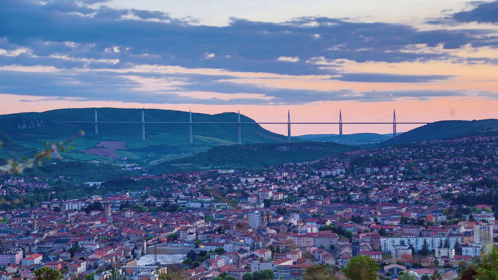
{"type": "MultiPolygon", "coordinates": [[[[217,145],[237,143],[237,125],[193,124],[194,143],[189,143],[188,124],[145,124],[146,140],[141,140],[141,124],[104,122],[141,122],[141,109],[87,108],[60,109],[41,113],[0,115],[0,159],[30,156],[44,148],[47,141],[61,141],[76,135],[74,150],[67,160],[117,165],[154,164],[167,158],[191,155],[217,145]],[[95,110],[98,112],[99,134],[95,135],[95,110]],[[62,123],[85,121],[90,123],[62,123]]],[[[172,110],[145,109],[145,122],[188,122],[189,113],[172,110]]],[[[237,122],[237,113],[216,115],[192,113],[193,122],[237,122]]],[[[242,122],[254,121],[241,115],[242,122]]],[[[287,138],[261,128],[257,124],[242,125],[243,143],[286,142],[287,138]]]]}

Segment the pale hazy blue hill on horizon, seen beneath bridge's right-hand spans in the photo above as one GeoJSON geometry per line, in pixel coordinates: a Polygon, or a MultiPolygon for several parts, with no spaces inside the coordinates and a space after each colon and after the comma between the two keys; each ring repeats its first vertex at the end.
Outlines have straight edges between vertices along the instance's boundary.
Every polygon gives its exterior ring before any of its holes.
{"type": "MultiPolygon", "coordinates": [[[[338,134],[307,134],[297,136],[299,139],[319,142],[339,142],[338,134]]],[[[343,134],[343,143],[351,145],[360,145],[368,143],[378,143],[392,138],[392,134],[376,133],[355,133],[343,134]]]]}

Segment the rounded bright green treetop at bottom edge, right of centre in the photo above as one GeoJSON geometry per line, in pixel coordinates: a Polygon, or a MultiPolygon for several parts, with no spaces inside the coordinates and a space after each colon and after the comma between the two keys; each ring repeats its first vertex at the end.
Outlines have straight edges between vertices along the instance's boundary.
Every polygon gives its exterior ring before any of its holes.
{"type": "Polygon", "coordinates": [[[376,280],[380,266],[369,256],[357,255],[343,268],[344,276],[350,280],[376,280]]]}

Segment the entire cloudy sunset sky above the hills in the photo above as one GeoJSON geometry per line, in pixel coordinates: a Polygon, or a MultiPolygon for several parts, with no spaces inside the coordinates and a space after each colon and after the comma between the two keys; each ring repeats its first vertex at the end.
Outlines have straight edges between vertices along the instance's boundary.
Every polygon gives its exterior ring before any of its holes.
{"type": "MultiPolygon", "coordinates": [[[[342,110],[344,122],[389,122],[395,109],[398,122],[498,119],[498,0],[1,0],[0,102],[0,114],[240,110],[285,122],[290,110],[295,122],[336,122],[342,110]]],[[[294,125],[292,135],[338,130],[294,125]]]]}

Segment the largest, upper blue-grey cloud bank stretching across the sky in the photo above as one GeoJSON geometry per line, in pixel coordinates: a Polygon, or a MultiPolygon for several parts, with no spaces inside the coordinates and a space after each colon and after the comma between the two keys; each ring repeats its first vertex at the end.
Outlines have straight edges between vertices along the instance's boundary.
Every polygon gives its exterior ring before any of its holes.
{"type": "MultiPolygon", "coordinates": [[[[9,44],[29,47],[38,56],[119,59],[116,65],[105,65],[115,68],[152,63],[291,75],[331,74],[330,69],[306,61],[321,56],[357,62],[446,60],[447,54],[402,50],[410,44],[442,43],[445,48],[458,48],[468,43],[497,45],[498,42],[490,31],[420,31],[402,24],[326,17],[303,17],[283,23],[233,18],[229,26],[217,27],[190,25],[188,20],[171,18],[161,11],[114,9],[105,5],[93,8],[66,0],[51,0],[44,5],[35,0],[3,0],[0,5],[0,37],[9,44]],[[140,20],[124,15],[135,15],[140,20]],[[309,26],[310,23],[314,24],[309,26]],[[57,45],[61,42],[74,42],[78,46],[57,45]],[[120,52],[106,51],[116,46],[120,52]],[[207,53],[215,56],[206,58],[207,53]],[[280,56],[300,60],[279,61],[280,56]]],[[[18,63],[33,63],[28,60],[25,57],[18,63]]],[[[96,61],[82,62],[81,66],[75,66],[74,61],[57,63],[55,59],[45,63],[66,69],[104,67],[96,61]]]]}

